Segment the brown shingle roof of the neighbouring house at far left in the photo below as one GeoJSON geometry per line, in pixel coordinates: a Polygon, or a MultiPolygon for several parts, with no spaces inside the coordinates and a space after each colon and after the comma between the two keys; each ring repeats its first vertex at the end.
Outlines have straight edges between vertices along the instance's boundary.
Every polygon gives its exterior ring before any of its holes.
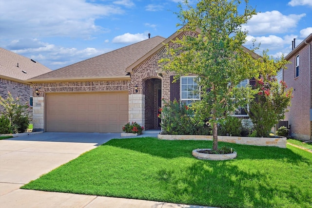
{"type": "Polygon", "coordinates": [[[50,71],[39,62],[0,48],[0,76],[26,80],[50,71]]]}

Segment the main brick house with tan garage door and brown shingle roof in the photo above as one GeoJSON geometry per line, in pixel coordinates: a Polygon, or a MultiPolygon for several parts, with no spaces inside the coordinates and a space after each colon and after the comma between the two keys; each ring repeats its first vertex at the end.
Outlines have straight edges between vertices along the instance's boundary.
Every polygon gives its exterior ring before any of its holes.
{"type": "Polygon", "coordinates": [[[183,90],[195,88],[192,76],[173,84],[174,74],[163,72],[158,63],[167,56],[164,44],[173,47],[172,39],[198,31],[185,33],[149,38],[27,80],[33,83],[34,129],[121,132],[128,121],[146,130],[160,128],[161,98],[199,98],[183,90]]]}

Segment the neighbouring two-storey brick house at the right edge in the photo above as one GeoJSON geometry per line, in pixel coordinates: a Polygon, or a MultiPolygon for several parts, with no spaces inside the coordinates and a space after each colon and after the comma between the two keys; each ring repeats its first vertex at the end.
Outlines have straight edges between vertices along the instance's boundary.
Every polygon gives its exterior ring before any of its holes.
{"type": "Polygon", "coordinates": [[[290,61],[286,70],[280,70],[277,78],[286,82],[292,88],[292,100],[289,112],[285,114],[291,136],[311,140],[312,134],[312,34],[298,46],[293,43],[293,50],[285,59],[290,61]]]}

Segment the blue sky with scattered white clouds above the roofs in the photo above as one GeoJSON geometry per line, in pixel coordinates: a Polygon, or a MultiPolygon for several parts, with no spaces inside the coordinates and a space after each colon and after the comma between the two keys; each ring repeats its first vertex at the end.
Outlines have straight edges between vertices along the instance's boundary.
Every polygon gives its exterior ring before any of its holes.
{"type": "MultiPolygon", "coordinates": [[[[243,0],[242,0],[243,1],[243,0]]],[[[0,0],[0,47],[52,70],[178,29],[179,0],[0,0]]],[[[190,0],[195,6],[196,0],[190,0]]],[[[312,33],[312,0],[249,0],[244,27],[274,58],[312,33]]]]}

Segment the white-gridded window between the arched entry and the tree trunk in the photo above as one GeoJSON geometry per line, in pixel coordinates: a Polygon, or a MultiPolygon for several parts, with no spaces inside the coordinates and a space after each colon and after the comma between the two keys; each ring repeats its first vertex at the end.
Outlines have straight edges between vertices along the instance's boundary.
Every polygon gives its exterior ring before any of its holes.
{"type": "Polygon", "coordinates": [[[180,80],[180,99],[186,105],[195,100],[199,100],[199,88],[196,82],[196,76],[181,76],[180,80]]]}

